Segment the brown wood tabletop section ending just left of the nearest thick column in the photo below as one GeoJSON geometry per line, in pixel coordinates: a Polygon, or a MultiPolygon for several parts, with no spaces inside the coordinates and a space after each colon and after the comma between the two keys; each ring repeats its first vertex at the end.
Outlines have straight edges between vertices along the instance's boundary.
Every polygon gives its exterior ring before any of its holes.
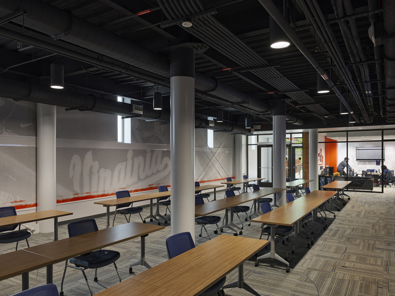
{"type": "Polygon", "coordinates": [[[165,229],[165,227],[130,222],[47,244],[36,245],[24,250],[53,258],[56,262],[59,262],[162,229],[165,229]]]}

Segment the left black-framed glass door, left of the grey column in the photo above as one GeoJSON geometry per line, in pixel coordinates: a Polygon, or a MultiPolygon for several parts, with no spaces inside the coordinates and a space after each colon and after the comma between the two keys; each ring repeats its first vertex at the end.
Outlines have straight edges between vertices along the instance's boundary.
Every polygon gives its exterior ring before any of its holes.
{"type": "Polygon", "coordinates": [[[273,145],[258,146],[258,181],[260,187],[273,187],[273,145]]]}

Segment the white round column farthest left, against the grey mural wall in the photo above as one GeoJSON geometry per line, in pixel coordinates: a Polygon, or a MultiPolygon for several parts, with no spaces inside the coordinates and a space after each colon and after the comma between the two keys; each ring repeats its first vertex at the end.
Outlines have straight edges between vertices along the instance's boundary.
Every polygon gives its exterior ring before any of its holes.
{"type": "MultiPolygon", "coordinates": [[[[56,210],[56,106],[37,103],[37,212],[56,210]]],[[[53,232],[53,219],[40,232],[53,232]]]]}

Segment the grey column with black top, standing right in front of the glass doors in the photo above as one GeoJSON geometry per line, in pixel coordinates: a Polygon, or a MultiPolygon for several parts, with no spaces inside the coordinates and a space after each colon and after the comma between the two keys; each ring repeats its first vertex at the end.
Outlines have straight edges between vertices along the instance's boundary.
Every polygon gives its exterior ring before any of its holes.
{"type": "MultiPolygon", "coordinates": [[[[286,172],[285,101],[273,101],[273,188],[285,188],[286,172]]],[[[277,193],[277,204],[286,204],[286,192],[277,193]]]]}

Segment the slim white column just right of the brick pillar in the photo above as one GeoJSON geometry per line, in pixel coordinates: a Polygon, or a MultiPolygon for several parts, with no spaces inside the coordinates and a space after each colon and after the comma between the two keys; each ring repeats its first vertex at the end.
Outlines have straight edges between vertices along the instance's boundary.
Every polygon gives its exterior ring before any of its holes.
{"type": "Polygon", "coordinates": [[[308,178],[310,190],[318,190],[318,129],[308,130],[308,178]]]}

